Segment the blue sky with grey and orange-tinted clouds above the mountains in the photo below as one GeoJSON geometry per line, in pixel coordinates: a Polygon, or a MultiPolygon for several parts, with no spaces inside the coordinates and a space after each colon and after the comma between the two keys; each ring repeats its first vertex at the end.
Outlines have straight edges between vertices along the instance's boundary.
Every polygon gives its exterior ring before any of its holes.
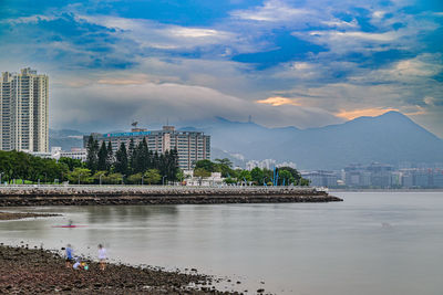
{"type": "Polygon", "coordinates": [[[50,76],[50,127],[268,127],[399,110],[443,138],[441,0],[0,0],[0,71],[50,76]]]}

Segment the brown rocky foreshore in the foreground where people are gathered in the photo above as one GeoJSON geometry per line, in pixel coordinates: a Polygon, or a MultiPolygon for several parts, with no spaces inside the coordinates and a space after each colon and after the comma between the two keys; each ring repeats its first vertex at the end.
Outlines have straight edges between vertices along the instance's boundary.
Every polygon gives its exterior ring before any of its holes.
{"type": "Polygon", "coordinates": [[[238,294],[217,291],[210,276],[197,273],[87,264],[87,271],[68,268],[56,253],[0,245],[0,294],[238,294]]]}

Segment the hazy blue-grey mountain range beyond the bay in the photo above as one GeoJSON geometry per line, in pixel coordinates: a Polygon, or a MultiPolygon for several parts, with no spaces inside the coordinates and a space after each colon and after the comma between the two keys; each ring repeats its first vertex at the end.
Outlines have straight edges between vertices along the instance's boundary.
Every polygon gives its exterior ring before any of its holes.
{"type": "MultiPolygon", "coordinates": [[[[179,129],[205,131],[212,136],[213,158],[227,156],[237,162],[275,159],[293,161],[299,169],[341,169],[373,161],[443,162],[443,140],[399,112],[308,129],[268,128],[222,117],[179,129]]],[[[60,136],[59,141],[50,136],[51,145],[60,143],[60,136]]]]}

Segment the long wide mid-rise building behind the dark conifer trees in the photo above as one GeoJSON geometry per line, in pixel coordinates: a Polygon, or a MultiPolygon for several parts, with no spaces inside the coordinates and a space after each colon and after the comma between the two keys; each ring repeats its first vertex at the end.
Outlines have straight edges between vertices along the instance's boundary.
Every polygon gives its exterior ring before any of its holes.
{"type": "MultiPolygon", "coordinates": [[[[177,149],[178,167],[183,170],[192,170],[199,160],[210,159],[210,136],[203,131],[182,131],[176,130],[174,126],[163,126],[162,130],[151,130],[143,128],[133,128],[131,133],[109,133],[109,134],[91,134],[99,145],[109,143],[115,152],[121,144],[125,144],[126,148],[131,139],[135,145],[146,139],[147,147],[152,151],[163,154],[166,150],[177,149]]],[[[90,136],[83,137],[83,147],[87,147],[90,136]]]]}

